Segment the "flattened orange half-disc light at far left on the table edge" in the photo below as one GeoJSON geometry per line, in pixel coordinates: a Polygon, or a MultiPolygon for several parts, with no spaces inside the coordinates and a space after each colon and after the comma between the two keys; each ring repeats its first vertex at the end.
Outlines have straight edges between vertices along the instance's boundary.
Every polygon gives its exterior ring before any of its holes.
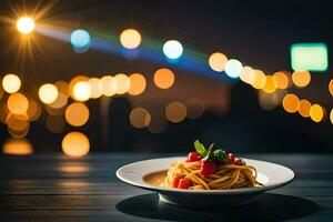
{"type": "Polygon", "coordinates": [[[33,153],[33,149],[26,139],[9,139],[4,142],[2,152],[9,155],[29,155],[33,153]]]}

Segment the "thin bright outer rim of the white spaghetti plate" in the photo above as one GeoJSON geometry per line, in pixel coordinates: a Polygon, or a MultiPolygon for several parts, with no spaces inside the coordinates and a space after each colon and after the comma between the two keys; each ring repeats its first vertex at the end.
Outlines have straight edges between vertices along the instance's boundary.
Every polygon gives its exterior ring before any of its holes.
{"type": "MultiPolygon", "coordinates": [[[[128,164],[124,164],[122,167],[120,167],[117,172],[115,172],[115,175],[119,180],[121,180],[122,182],[124,183],[128,183],[130,185],[133,185],[133,186],[137,186],[137,188],[141,188],[141,189],[144,189],[144,190],[150,190],[150,191],[155,191],[158,193],[189,193],[189,194],[221,194],[221,195],[228,195],[228,194],[245,194],[245,193],[260,193],[260,192],[264,192],[264,191],[268,191],[268,190],[273,190],[273,189],[276,189],[276,188],[281,188],[281,186],[284,186],[284,185],[287,185],[289,183],[291,183],[294,178],[295,178],[295,173],[292,169],[285,167],[285,165],[282,165],[282,164],[279,164],[279,163],[274,163],[274,162],[269,162],[269,161],[263,161],[263,160],[255,160],[255,159],[249,159],[249,158],[242,158],[246,161],[256,161],[256,162],[262,162],[262,163],[265,163],[265,164],[273,164],[273,165],[276,165],[279,168],[282,168],[284,169],[285,171],[289,171],[289,173],[291,173],[291,178],[289,178],[287,180],[285,180],[284,182],[280,182],[280,183],[276,183],[276,184],[271,184],[271,185],[265,185],[265,186],[259,186],[259,188],[241,188],[241,189],[231,189],[231,190],[181,190],[181,189],[172,189],[172,188],[163,188],[163,186],[154,186],[154,185],[151,185],[149,183],[145,183],[143,181],[143,184],[142,183],[138,183],[135,181],[132,181],[132,180],[129,180],[124,176],[121,175],[122,171],[125,170],[127,168],[131,167],[131,165],[134,165],[134,164],[139,164],[139,163],[144,163],[144,162],[149,162],[149,161],[158,161],[158,160],[165,160],[165,159],[184,159],[185,157],[182,157],[182,155],[178,155],[178,157],[167,157],[167,158],[153,158],[153,159],[147,159],[147,160],[141,160],[141,161],[135,161],[135,162],[131,162],[131,163],[128,163],[128,164]]],[[[168,169],[165,169],[168,170],[168,169]]],[[[154,173],[154,172],[159,172],[159,171],[151,171],[150,173],[154,173]]]]}

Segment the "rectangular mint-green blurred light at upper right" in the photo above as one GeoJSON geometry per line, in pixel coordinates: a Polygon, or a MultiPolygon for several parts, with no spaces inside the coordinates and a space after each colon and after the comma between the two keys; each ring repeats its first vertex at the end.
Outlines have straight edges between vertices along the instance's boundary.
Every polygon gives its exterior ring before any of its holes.
{"type": "Polygon", "coordinates": [[[327,47],[324,43],[295,43],[291,47],[291,63],[294,71],[326,71],[327,47]]]}

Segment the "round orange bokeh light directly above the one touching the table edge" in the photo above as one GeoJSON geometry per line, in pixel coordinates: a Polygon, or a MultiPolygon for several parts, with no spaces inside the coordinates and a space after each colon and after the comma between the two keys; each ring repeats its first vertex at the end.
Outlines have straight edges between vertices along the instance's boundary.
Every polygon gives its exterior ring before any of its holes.
{"type": "Polygon", "coordinates": [[[84,103],[74,102],[65,109],[64,117],[69,124],[81,127],[89,120],[89,109],[84,103]]]}

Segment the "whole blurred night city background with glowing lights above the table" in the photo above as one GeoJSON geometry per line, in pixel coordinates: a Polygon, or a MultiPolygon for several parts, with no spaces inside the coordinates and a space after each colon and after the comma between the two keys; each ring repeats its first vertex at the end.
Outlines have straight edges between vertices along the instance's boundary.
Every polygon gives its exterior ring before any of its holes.
{"type": "Polygon", "coordinates": [[[321,1],[1,1],[2,154],[331,152],[321,1]]]}

